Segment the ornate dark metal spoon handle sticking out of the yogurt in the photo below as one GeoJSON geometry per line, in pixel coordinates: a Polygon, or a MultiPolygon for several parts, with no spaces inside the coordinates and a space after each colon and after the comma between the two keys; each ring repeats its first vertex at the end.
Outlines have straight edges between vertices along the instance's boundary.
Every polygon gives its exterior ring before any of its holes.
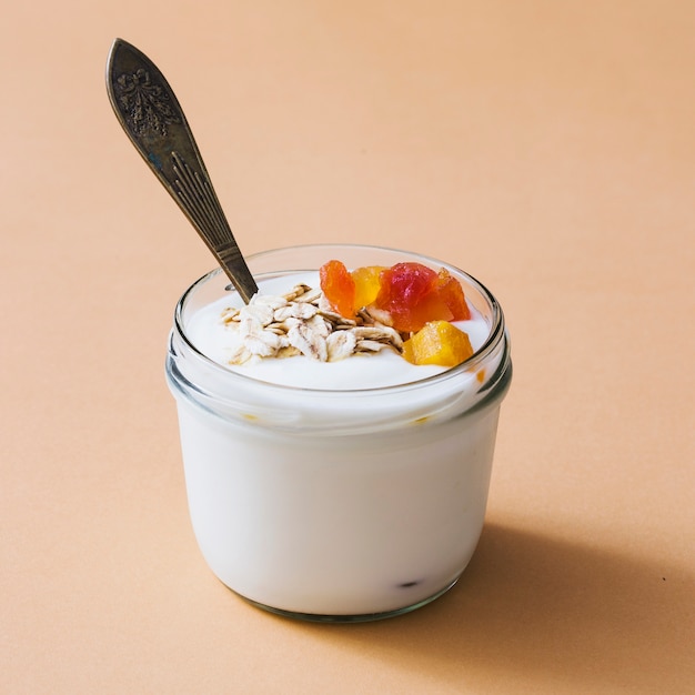
{"type": "Polygon", "coordinates": [[[134,46],[115,39],[107,91],[123,130],[212,251],[244,302],[258,292],[173,90],[134,46]]]}

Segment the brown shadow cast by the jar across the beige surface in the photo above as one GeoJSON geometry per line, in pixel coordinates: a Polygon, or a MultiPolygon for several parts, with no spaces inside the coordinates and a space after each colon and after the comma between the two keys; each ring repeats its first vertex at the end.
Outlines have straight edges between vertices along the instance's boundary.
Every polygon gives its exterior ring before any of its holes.
{"type": "Polygon", "coordinates": [[[450,687],[682,693],[695,682],[694,595],[695,578],[676,567],[491,524],[459,584],[429,606],[303,629],[450,687]]]}

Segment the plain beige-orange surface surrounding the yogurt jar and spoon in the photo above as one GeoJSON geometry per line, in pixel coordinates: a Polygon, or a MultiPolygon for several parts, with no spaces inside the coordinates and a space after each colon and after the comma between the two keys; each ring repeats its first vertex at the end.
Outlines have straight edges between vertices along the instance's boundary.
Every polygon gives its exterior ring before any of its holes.
{"type": "Polygon", "coordinates": [[[37,0],[0,27],[0,691],[693,692],[692,2],[37,0]],[[430,607],[288,622],[200,557],[163,357],[212,261],[111,112],[117,36],[246,252],[399,245],[502,301],[487,525],[430,607]]]}

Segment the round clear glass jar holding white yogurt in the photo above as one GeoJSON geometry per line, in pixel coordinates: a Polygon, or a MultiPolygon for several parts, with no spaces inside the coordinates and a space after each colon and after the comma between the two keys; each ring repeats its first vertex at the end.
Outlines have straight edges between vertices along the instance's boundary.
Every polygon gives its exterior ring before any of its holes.
{"type": "Polygon", "coordinates": [[[212,572],[265,610],[354,622],[422,606],[464,571],[483,526],[512,365],[494,296],[441,261],[338,244],[248,261],[262,289],[265,279],[315,271],[330,259],[348,268],[446,268],[488,336],[459,366],[397,386],[274,385],[212,361],[187,333],[197,311],[232,294],[218,269],[177,305],[167,376],[192,525],[212,572]]]}

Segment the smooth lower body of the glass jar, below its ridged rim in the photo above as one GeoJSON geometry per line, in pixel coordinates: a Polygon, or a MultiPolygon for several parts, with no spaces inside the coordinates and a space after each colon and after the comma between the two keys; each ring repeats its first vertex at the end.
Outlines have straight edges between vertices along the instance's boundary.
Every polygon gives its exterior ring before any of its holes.
{"type": "Polygon", "coordinates": [[[246,598],[292,613],[382,613],[436,594],[477,544],[498,411],[369,442],[336,437],[326,453],[181,403],[207,563],[246,598]]]}

